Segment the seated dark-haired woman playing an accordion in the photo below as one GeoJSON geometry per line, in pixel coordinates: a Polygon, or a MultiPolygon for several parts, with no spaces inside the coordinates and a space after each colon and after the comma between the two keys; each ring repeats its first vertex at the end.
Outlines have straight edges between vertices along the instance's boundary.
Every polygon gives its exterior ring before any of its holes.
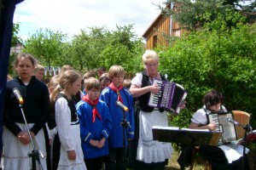
{"type": "MultiPolygon", "coordinates": [[[[204,106],[192,116],[189,128],[215,131],[217,128],[216,123],[209,122],[207,115],[210,113],[227,112],[224,105],[221,105],[222,100],[223,95],[217,90],[213,89],[205,94],[203,98],[204,106]]],[[[239,144],[222,144],[219,146],[203,145],[200,147],[200,150],[207,161],[211,163],[213,169],[243,169],[241,168],[243,147],[239,144]]],[[[248,169],[247,160],[244,166],[244,169],[248,169]]]]}

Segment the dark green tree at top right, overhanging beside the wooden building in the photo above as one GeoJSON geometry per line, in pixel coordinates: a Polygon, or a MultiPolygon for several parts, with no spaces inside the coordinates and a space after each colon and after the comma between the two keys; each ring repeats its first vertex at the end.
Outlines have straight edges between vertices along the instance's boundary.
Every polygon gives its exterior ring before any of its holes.
{"type": "Polygon", "coordinates": [[[238,11],[241,12],[246,16],[247,23],[256,20],[255,2],[242,5],[239,0],[166,0],[164,4],[171,4],[171,8],[162,7],[160,3],[156,6],[161,9],[163,14],[166,16],[172,15],[173,20],[190,31],[195,31],[208,22],[202,17],[204,14],[211,14],[211,20],[215,20],[218,14],[225,15],[227,9],[234,14],[238,11]],[[173,8],[173,4],[175,8],[173,8]]]}

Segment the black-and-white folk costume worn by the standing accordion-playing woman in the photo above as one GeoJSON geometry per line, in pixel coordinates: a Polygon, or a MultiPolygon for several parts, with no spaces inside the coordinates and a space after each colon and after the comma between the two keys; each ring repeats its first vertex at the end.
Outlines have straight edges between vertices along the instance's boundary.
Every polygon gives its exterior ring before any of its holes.
{"type": "MultiPolygon", "coordinates": [[[[161,76],[161,79],[165,80],[161,76]]],[[[131,84],[143,88],[153,84],[153,79],[148,77],[146,71],[137,73],[131,80],[131,84]]],[[[135,150],[137,169],[148,166],[148,169],[163,169],[166,160],[172,156],[172,145],[170,143],[153,140],[153,126],[168,126],[167,112],[158,108],[148,106],[150,93],[137,97],[136,100],[136,139],[133,143],[135,150]]]]}

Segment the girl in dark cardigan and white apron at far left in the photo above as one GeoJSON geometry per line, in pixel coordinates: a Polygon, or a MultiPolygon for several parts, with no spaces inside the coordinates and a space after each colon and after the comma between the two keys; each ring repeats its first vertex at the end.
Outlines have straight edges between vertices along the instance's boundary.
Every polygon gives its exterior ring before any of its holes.
{"type": "Polygon", "coordinates": [[[32,158],[27,155],[33,150],[32,142],[14,88],[20,91],[26,122],[34,144],[44,155],[40,158],[42,167],[47,169],[46,145],[49,146],[49,139],[45,122],[49,117],[49,92],[44,82],[32,76],[35,65],[36,60],[31,54],[18,54],[14,61],[18,76],[7,82],[3,112],[4,169],[32,169],[32,158]]]}

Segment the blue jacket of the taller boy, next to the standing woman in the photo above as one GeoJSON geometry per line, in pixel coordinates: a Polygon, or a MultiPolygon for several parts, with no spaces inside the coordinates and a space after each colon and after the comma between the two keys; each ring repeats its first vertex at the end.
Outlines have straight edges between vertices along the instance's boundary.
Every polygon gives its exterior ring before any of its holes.
{"type": "Polygon", "coordinates": [[[128,88],[122,88],[120,90],[120,95],[123,99],[123,104],[128,107],[129,111],[125,111],[125,119],[128,122],[126,126],[125,134],[123,133],[124,126],[123,122],[123,109],[116,105],[118,100],[118,95],[111,88],[104,88],[100,99],[106,102],[109,108],[109,112],[112,118],[113,128],[111,130],[110,136],[108,138],[108,144],[110,148],[121,148],[124,146],[123,137],[125,137],[125,146],[128,144],[128,139],[134,138],[134,110],[133,110],[133,97],[128,88]],[[127,139],[128,137],[128,139],[127,139]]]}

